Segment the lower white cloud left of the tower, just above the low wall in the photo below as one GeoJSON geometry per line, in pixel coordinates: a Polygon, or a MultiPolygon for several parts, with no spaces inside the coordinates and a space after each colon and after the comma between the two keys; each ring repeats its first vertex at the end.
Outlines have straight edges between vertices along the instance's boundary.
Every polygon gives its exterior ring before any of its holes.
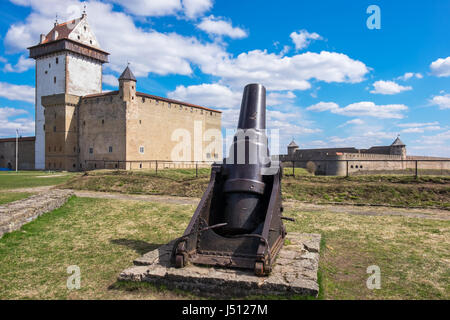
{"type": "Polygon", "coordinates": [[[15,137],[16,129],[19,130],[19,134],[22,136],[33,134],[33,119],[31,119],[26,110],[0,107],[0,137],[15,137]],[[28,115],[28,117],[19,117],[23,115],[28,115]]]}

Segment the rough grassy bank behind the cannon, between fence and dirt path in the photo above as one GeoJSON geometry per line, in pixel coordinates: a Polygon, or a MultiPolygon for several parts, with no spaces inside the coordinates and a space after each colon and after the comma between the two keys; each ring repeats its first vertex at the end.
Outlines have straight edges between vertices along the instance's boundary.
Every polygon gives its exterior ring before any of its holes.
{"type": "MultiPolygon", "coordinates": [[[[285,168],[292,174],[292,168],[285,168]]],[[[93,191],[138,194],[163,194],[201,197],[209,182],[209,169],[154,171],[91,171],[70,179],[65,187],[93,191]]],[[[311,203],[347,203],[395,205],[404,207],[438,207],[450,209],[450,177],[370,175],[312,176],[295,168],[295,177],[286,175],[283,197],[311,203]]]]}

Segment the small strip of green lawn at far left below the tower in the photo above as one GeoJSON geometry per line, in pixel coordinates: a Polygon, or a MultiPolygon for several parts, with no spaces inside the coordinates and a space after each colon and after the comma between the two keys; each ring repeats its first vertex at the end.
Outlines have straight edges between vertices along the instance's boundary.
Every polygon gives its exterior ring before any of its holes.
{"type": "Polygon", "coordinates": [[[69,180],[76,173],[53,171],[2,171],[0,190],[53,186],[69,180]]]}

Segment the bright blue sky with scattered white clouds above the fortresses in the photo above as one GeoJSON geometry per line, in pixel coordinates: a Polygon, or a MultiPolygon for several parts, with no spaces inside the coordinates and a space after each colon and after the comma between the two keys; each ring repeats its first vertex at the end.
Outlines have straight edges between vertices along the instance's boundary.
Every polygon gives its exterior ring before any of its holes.
{"type": "MultiPolygon", "coordinates": [[[[131,62],[138,90],[223,111],[237,123],[243,86],[268,90],[268,128],[282,151],[391,143],[450,157],[450,1],[87,1],[110,63],[104,90],[131,62]],[[381,28],[369,29],[369,5],[381,28]]],[[[0,137],[34,134],[27,46],[78,0],[0,4],[0,137]]]]}

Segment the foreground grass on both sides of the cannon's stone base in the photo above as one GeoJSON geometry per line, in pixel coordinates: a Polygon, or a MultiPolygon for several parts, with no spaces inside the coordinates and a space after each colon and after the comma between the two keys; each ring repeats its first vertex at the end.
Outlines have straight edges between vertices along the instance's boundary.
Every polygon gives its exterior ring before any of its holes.
{"type": "MultiPolygon", "coordinates": [[[[191,205],[73,197],[0,239],[0,299],[174,299],[188,293],[116,283],[143,253],[182,234],[191,205]],[[66,268],[81,268],[81,289],[66,268]],[[132,290],[134,289],[134,290],[132,290]]],[[[288,231],[317,232],[324,299],[449,299],[450,221],[286,210],[288,231]],[[381,289],[365,286],[381,268],[381,289]]]]}

